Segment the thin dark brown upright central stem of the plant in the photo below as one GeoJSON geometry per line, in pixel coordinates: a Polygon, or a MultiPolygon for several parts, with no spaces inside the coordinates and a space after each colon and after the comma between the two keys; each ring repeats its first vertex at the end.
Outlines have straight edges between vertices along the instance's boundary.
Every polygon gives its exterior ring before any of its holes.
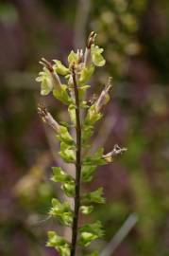
{"type": "Polygon", "coordinates": [[[81,124],[80,124],[80,111],[79,111],[79,97],[76,84],[75,65],[73,65],[73,82],[76,97],[76,196],[75,196],[75,210],[74,220],[72,227],[72,245],[71,256],[76,256],[76,238],[78,229],[78,215],[80,207],[80,176],[81,176],[81,124]]]}

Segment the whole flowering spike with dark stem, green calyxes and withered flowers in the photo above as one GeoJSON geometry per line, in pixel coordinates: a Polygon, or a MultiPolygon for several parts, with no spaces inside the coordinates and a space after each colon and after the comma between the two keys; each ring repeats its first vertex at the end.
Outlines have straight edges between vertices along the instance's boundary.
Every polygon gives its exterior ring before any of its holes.
{"type": "MultiPolygon", "coordinates": [[[[100,96],[93,101],[86,100],[86,91],[91,87],[89,81],[95,66],[103,66],[106,63],[102,56],[103,49],[95,46],[95,37],[96,34],[92,32],[84,53],[83,50],[71,51],[67,66],[61,64],[59,60],[54,60],[54,64],[51,64],[42,58],[40,62],[42,72],[36,79],[37,82],[41,82],[42,96],[53,93],[57,100],[67,105],[72,122],[71,127],[76,131],[76,138],[74,138],[67,125],[59,124],[46,108],[39,107],[42,120],[54,129],[59,139],[59,155],[66,163],[75,165],[75,177],[67,174],[61,167],[52,168],[52,180],[60,183],[60,188],[66,196],[74,198],[73,207],[69,202],[60,202],[57,198],[53,198],[49,211],[51,216],[59,218],[61,224],[72,229],[71,241],[66,241],[54,230],[48,231],[47,246],[55,247],[60,256],[76,256],[77,245],[88,247],[93,240],[104,235],[100,221],[79,225],[79,214],[90,214],[93,211],[93,205],[105,203],[102,188],[83,194],[81,185],[93,180],[93,174],[98,165],[111,163],[115,155],[126,151],[125,148],[117,145],[106,155],[103,148],[98,148],[93,155],[88,151],[94,124],[103,117],[102,109],[110,101],[112,87],[109,79],[100,96]],[[59,75],[64,77],[65,83],[60,82],[59,75]]],[[[94,251],[90,255],[98,254],[94,251]]]]}

